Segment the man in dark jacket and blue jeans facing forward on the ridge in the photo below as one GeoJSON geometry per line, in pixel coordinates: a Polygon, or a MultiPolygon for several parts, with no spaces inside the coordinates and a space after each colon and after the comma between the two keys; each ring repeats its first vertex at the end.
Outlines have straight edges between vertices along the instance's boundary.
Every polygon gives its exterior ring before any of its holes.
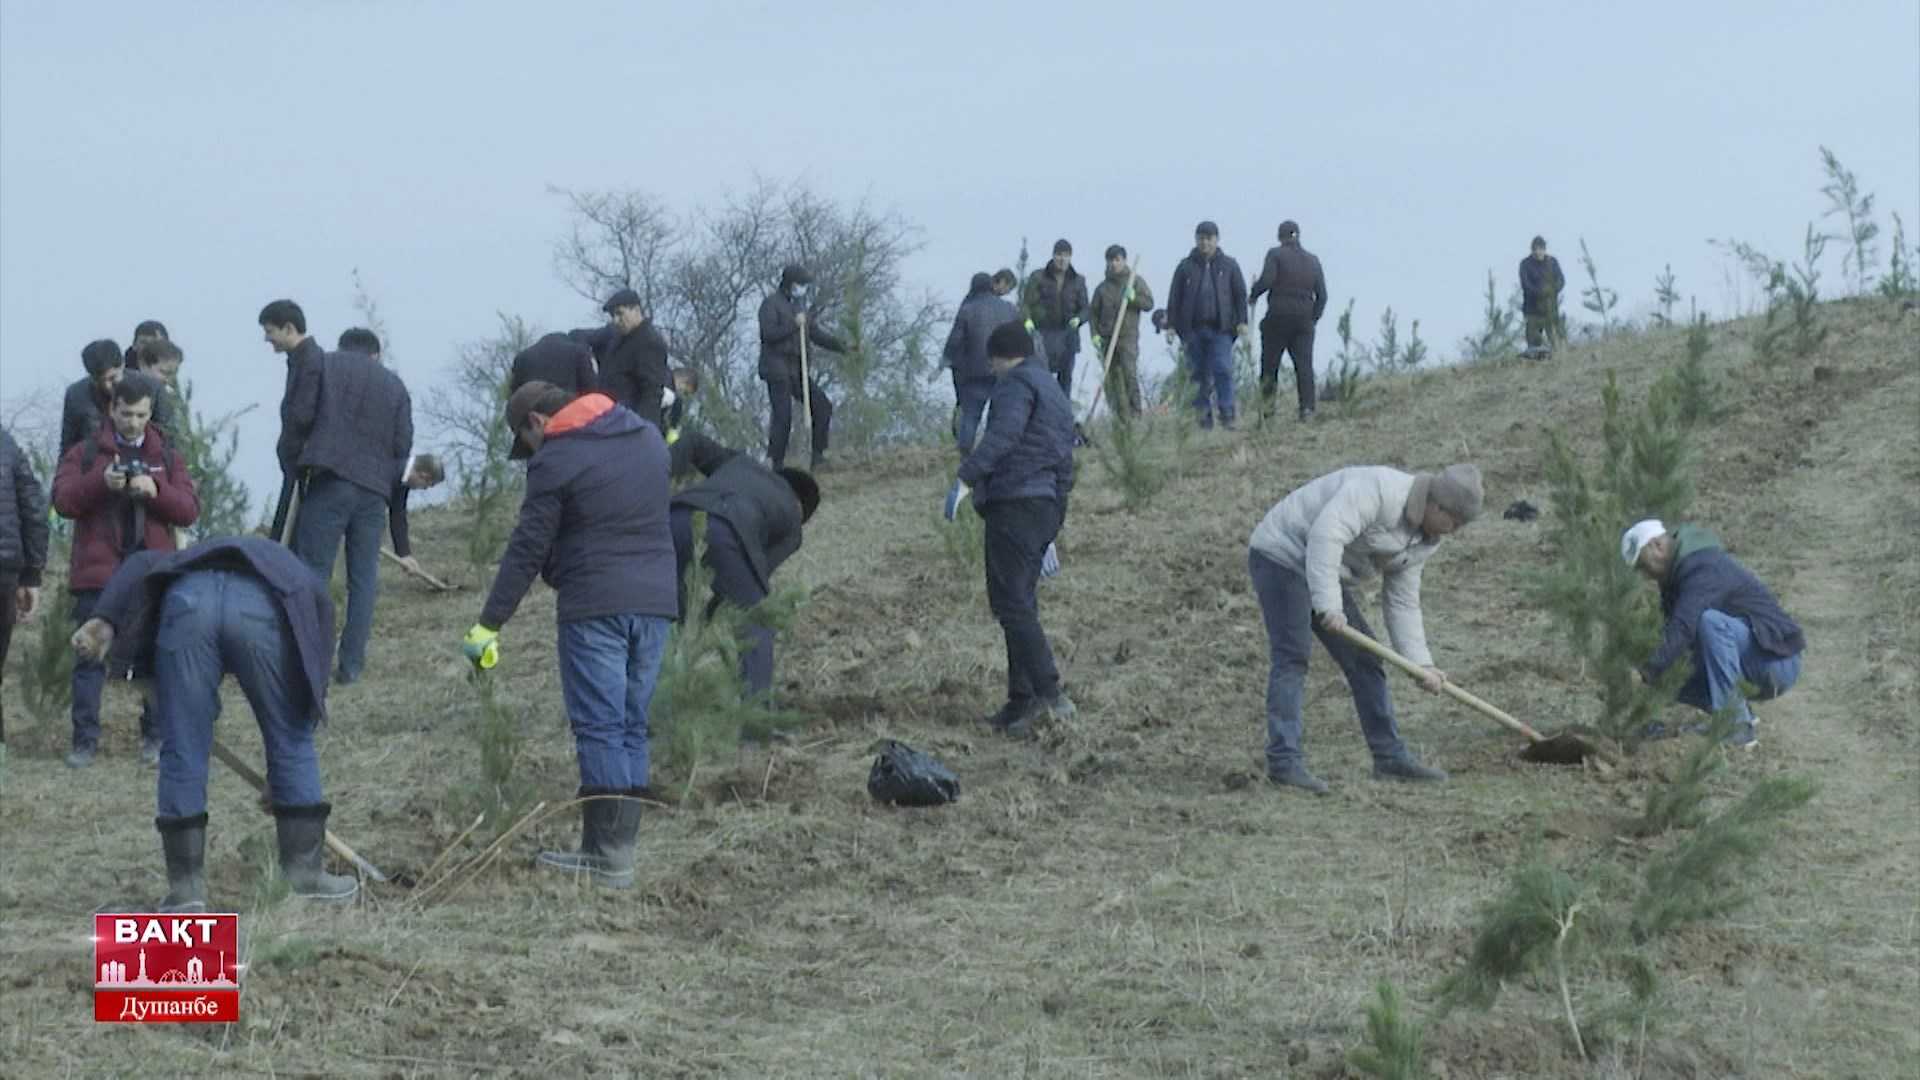
{"type": "Polygon", "coordinates": [[[1173,269],[1167,325],[1187,352],[1200,427],[1213,427],[1217,407],[1221,427],[1231,430],[1233,342],[1246,334],[1246,275],[1219,250],[1219,227],[1212,221],[1194,227],[1194,250],[1173,269]]]}

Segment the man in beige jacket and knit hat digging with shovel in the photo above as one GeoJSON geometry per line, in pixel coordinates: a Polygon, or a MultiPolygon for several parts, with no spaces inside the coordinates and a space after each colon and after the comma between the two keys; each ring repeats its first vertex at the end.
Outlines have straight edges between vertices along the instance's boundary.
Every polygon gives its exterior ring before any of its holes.
{"type": "Polygon", "coordinates": [[[1394,726],[1386,673],[1371,653],[1336,630],[1371,634],[1350,584],[1384,582],[1386,632],[1396,650],[1427,669],[1421,686],[1438,694],[1446,673],[1427,651],[1421,619],[1421,567],[1440,540],[1480,515],[1480,471],[1448,465],[1411,475],[1379,465],[1338,469],[1294,490],[1254,528],[1248,573],[1267,623],[1273,669],[1267,675],[1267,778],[1317,796],[1327,784],[1308,773],[1300,749],[1306,700],[1308,630],[1319,636],[1354,690],[1359,728],[1382,780],[1446,780],[1421,765],[1394,726]]]}

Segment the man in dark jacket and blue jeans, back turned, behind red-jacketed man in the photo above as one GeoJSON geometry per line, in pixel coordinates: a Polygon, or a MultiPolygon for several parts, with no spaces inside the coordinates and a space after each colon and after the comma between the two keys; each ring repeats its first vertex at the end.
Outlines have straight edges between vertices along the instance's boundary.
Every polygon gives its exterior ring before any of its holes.
{"type": "Polygon", "coordinates": [[[413,454],[413,400],[399,375],[367,352],[336,352],[321,363],[319,394],[286,415],[294,463],[307,477],[292,548],[321,580],[330,580],[346,540],[348,619],[338,678],[349,684],[367,667],[380,596],[380,530],[394,482],[413,454]]]}

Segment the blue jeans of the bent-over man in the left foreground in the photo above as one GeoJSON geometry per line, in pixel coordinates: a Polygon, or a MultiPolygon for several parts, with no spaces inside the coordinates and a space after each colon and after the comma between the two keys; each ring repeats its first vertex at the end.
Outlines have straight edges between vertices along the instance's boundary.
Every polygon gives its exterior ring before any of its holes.
{"type": "Polygon", "coordinates": [[[240,682],[267,746],[273,805],[324,801],[300,644],[273,588],[246,571],[192,571],[161,600],[156,642],[159,817],[207,811],[207,757],[227,675],[240,682]]]}

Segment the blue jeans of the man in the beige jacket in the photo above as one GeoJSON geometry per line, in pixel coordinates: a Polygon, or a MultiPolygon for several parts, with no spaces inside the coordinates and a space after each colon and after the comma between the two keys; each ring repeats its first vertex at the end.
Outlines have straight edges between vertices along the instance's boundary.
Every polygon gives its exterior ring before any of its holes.
{"type": "MultiPolygon", "coordinates": [[[[1313,650],[1308,630],[1327,646],[1327,653],[1346,675],[1354,707],[1359,709],[1359,730],[1367,736],[1373,759],[1405,757],[1407,748],[1394,724],[1394,700],[1386,692],[1386,671],[1380,661],[1313,625],[1313,596],[1306,577],[1260,552],[1246,553],[1246,569],[1254,578],[1254,594],[1260,596],[1260,615],[1267,623],[1267,653],[1273,663],[1267,673],[1267,773],[1281,773],[1306,757],[1300,749],[1300,715],[1306,707],[1308,653],[1313,650]]],[[[1340,590],[1340,605],[1350,626],[1373,634],[1346,588],[1340,590]]]]}

